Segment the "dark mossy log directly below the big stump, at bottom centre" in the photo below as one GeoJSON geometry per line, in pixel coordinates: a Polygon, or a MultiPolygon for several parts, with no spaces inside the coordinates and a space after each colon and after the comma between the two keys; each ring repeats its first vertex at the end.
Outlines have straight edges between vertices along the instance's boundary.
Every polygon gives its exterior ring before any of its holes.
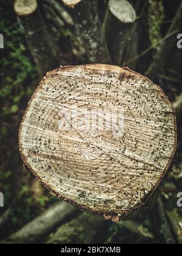
{"type": "Polygon", "coordinates": [[[50,236],[47,244],[101,243],[106,236],[106,227],[106,221],[103,219],[83,213],[61,226],[53,236],[50,236]]]}

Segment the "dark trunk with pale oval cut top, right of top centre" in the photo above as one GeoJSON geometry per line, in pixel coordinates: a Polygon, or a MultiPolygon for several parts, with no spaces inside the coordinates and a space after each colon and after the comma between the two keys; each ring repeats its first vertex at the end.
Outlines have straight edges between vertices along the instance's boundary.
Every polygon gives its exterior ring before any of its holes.
{"type": "Polygon", "coordinates": [[[124,59],[127,44],[132,38],[132,27],[135,20],[135,10],[128,1],[109,1],[103,27],[112,63],[115,65],[120,65],[124,59]]]}

